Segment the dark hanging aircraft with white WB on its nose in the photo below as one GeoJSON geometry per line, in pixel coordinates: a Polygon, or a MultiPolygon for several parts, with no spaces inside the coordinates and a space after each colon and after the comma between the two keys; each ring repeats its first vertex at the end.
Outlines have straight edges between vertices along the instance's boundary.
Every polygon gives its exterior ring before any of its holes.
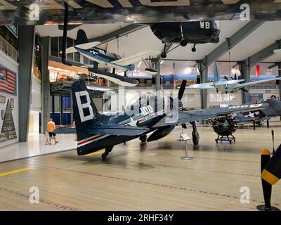
{"type": "MultiPolygon", "coordinates": [[[[191,51],[196,51],[196,44],[218,43],[220,30],[218,22],[215,21],[192,21],[192,22],[174,22],[174,23],[151,23],[150,28],[155,36],[164,43],[164,50],[161,53],[162,58],[166,58],[169,51],[169,44],[179,44],[186,46],[193,44],[191,51]]],[[[176,47],[175,47],[176,48],[176,47]]],[[[174,48],[174,49],[175,49],[174,48]]]]}

